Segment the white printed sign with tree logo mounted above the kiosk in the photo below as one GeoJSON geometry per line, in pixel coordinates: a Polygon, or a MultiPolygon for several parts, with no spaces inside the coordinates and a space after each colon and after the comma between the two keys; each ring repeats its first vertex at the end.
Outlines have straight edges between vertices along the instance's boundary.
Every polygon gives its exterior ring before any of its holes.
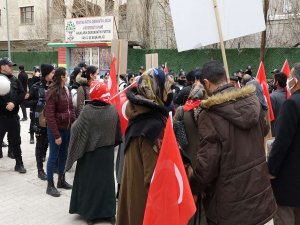
{"type": "Polygon", "coordinates": [[[114,18],[85,17],[65,20],[66,42],[102,42],[113,39],[114,18]]]}

